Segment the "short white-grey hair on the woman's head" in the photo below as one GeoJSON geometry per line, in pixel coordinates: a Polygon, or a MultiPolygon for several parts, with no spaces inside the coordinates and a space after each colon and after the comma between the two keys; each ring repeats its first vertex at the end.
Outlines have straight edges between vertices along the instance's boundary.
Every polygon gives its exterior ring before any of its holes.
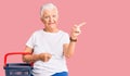
{"type": "Polygon", "coordinates": [[[53,3],[47,3],[47,4],[41,5],[41,9],[40,9],[40,17],[43,16],[44,10],[53,10],[53,9],[55,9],[56,12],[57,12],[57,8],[56,8],[56,5],[54,5],[53,3]]]}

